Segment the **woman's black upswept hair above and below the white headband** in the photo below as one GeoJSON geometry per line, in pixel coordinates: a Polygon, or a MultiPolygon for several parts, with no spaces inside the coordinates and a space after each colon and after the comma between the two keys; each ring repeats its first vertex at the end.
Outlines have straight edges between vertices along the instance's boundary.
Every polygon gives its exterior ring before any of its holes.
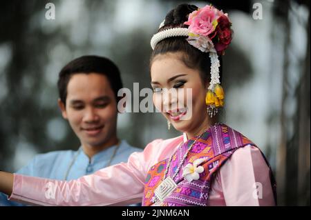
{"type": "MultiPolygon", "coordinates": [[[[180,4],[173,10],[171,10],[164,20],[164,26],[158,30],[166,30],[169,28],[187,28],[185,21],[188,21],[189,14],[194,10],[198,10],[198,7],[188,4],[180,4]]],[[[188,68],[197,69],[200,72],[202,82],[206,85],[209,82],[211,60],[209,54],[201,52],[194,46],[191,46],[187,42],[187,37],[169,37],[159,43],[157,43],[153,52],[151,53],[150,63],[153,63],[154,58],[159,54],[166,54],[168,52],[182,52],[180,57],[181,61],[185,63],[188,68]]],[[[220,81],[222,78],[221,57],[218,57],[220,61],[220,81]]],[[[151,66],[151,65],[150,65],[151,66]]]]}

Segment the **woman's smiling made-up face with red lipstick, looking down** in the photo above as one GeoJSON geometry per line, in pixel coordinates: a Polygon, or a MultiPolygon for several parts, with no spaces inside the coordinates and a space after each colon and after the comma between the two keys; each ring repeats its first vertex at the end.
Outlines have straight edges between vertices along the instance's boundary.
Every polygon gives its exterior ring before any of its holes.
{"type": "Polygon", "coordinates": [[[209,126],[205,105],[207,86],[202,82],[199,70],[185,66],[181,56],[181,52],[169,52],[153,59],[153,103],[176,130],[195,136],[209,126]]]}

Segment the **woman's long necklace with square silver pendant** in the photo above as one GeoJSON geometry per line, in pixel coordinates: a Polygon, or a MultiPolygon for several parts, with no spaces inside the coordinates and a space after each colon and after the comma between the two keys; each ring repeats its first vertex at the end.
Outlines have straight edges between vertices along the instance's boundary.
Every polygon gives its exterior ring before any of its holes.
{"type": "Polygon", "coordinates": [[[167,172],[169,171],[169,167],[171,166],[171,160],[173,159],[173,154],[171,154],[171,157],[169,158],[169,163],[168,163],[167,168],[165,169],[165,172],[163,175],[162,183],[160,183],[160,185],[154,191],[154,194],[156,195],[156,197],[154,198],[156,204],[159,204],[159,202],[162,203],[163,200],[166,197],[168,197],[177,188],[177,184],[175,183],[175,181],[173,179],[176,177],[180,168],[182,167],[182,164],[185,162],[185,159],[187,158],[189,151],[191,150],[192,146],[194,146],[194,143],[196,143],[196,141],[198,141],[198,139],[200,139],[200,137],[202,137],[202,135],[205,133],[205,131],[202,132],[202,134],[200,134],[193,143],[191,143],[191,146],[188,148],[187,152],[182,157],[180,164],[176,168],[176,171],[173,174],[173,177],[167,177],[167,172]]]}

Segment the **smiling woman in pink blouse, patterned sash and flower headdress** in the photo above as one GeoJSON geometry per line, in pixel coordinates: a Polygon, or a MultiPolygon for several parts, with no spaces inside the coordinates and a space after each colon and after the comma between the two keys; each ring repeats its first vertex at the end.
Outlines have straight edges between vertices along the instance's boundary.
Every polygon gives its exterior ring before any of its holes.
{"type": "Polygon", "coordinates": [[[127,163],[76,181],[18,174],[13,181],[12,174],[0,172],[0,190],[41,205],[126,205],[142,199],[143,206],[274,206],[275,184],[261,151],[216,123],[224,104],[218,55],[232,40],[230,26],[227,14],[213,6],[182,4],[151,39],[153,101],[183,136],[155,140],[127,163]],[[167,96],[171,88],[191,93],[167,96]]]}

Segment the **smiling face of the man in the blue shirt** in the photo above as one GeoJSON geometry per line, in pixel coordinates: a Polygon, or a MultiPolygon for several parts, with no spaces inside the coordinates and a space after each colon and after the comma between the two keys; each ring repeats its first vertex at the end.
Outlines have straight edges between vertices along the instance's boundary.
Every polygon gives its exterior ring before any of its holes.
{"type": "Polygon", "coordinates": [[[116,137],[117,103],[106,76],[73,74],[67,86],[62,115],[85,147],[106,147],[116,137]]]}

